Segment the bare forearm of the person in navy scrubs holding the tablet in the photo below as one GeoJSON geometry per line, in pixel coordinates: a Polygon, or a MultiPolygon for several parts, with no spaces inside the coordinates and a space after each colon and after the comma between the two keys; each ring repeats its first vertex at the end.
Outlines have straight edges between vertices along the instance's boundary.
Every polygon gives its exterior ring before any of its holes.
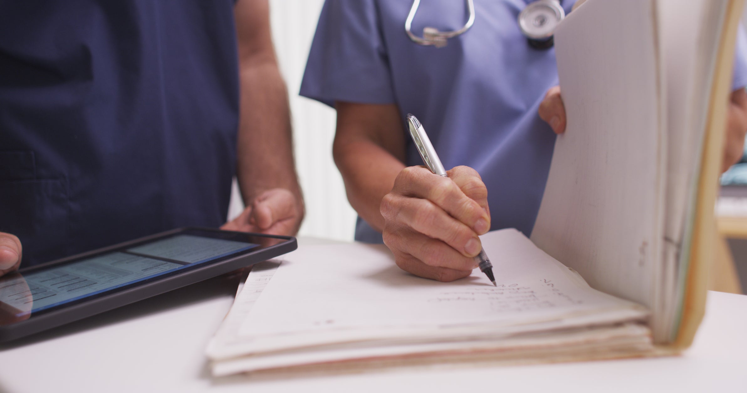
{"type": "Polygon", "coordinates": [[[237,177],[246,204],[267,189],[284,188],[293,192],[303,207],[288,93],[272,60],[241,66],[237,177]]]}

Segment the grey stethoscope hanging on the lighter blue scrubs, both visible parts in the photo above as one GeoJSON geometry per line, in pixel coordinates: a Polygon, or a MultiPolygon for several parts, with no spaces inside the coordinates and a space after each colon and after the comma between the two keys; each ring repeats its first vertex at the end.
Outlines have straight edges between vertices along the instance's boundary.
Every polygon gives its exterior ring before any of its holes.
{"type": "MultiPolygon", "coordinates": [[[[436,48],[443,48],[446,46],[448,39],[464,34],[474,25],[474,0],[466,1],[469,18],[462,28],[456,31],[438,31],[437,28],[427,27],[423,29],[423,37],[416,36],[411,30],[412,19],[415,19],[415,13],[418,12],[418,7],[420,7],[420,0],[412,1],[410,13],[405,21],[407,37],[420,45],[433,45],[436,48]]],[[[559,0],[536,0],[528,4],[518,14],[518,26],[521,28],[521,33],[527,37],[532,48],[547,49],[553,45],[553,33],[563,18],[565,18],[565,10],[563,10],[559,0]]]]}

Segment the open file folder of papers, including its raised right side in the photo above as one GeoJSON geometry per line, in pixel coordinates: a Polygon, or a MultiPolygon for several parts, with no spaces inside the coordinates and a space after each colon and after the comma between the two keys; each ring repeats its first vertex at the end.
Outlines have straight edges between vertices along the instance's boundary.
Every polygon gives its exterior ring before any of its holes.
{"type": "Polygon", "coordinates": [[[742,5],[586,1],[555,35],[568,127],[531,240],[483,236],[499,286],[479,271],[414,277],[382,245],[301,248],[249,274],[208,346],[214,375],[686,348],[714,254],[742,5]]]}

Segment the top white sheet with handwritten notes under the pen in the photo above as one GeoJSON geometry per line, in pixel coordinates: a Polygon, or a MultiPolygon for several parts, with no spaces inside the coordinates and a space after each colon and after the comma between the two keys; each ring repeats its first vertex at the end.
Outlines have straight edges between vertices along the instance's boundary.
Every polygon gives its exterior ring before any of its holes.
{"type": "MultiPolygon", "coordinates": [[[[643,318],[641,306],[591,289],[516,230],[483,236],[498,287],[480,271],[453,283],[415,277],[383,245],[313,246],[278,268],[237,334],[253,350],[335,340],[500,333],[516,327],[578,326],[590,315],[643,318]]],[[[259,277],[258,277],[259,278],[259,277]]]]}

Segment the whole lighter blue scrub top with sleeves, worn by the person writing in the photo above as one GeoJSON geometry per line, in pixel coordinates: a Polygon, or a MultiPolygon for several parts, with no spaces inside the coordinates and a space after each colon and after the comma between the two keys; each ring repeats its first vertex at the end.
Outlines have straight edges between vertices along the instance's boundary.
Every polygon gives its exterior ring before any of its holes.
{"type": "MultiPolygon", "coordinates": [[[[529,2],[475,0],[474,26],[435,48],[407,37],[410,0],[326,0],[300,94],[330,106],[397,104],[403,132],[404,116],[418,116],[445,168],[471,166],[483,177],[491,229],[515,227],[529,236],[555,142],[537,109],[558,84],[554,48],[530,48],[518,28],[529,2]]],[[[574,2],[561,2],[566,13],[574,2]]],[[[423,1],[412,31],[455,31],[467,18],[465,1],[423,1]]],[[[743,52],[735,86],[745,85],[743,52]]],[[[406,141],[406,164],[422,165],[409,134],[406,141]]],[[[382,236],[359,218],[356,240],[382,242],[382,236]]]]}

